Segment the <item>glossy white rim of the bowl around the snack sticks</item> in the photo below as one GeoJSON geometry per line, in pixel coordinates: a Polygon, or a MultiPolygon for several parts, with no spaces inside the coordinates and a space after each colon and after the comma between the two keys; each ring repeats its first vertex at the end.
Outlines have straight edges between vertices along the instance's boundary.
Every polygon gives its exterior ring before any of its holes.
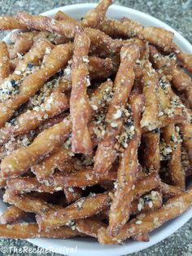
{"type": "MultiPolygon", "coordinates": [[[[94,8],[96,5],[97,5],[97,3],[72,4],[72,5],[63,6],[63,7],[57,7],[57,8],[51,9],[50,11],[45,11],[45,12],[41,13],[40,15],[53,16],[59,10],[65,11],[67,14],[68,14],[68,11],[72,11],[72,9],[74,9],[74,10],[75,9],[76,10],[85,9],[85,11],[87,11],[88,9],[94,8]]],[[[186,52],[189,52],[192,54],[192,46],[191,46],[190,42],[188,42],[185,38],[183,38],[181,36],[180,33],[178,33],[175,29],[172,29],[172,27],[170,27],[168,24],[165,24],[163,21],[158,20],[155,17],[148,15],[142,11],[137,11],[137,10],[129,8],[129,7],[112,5],[111,7],[109,7],[109,10],[107,11],[107,14],[109,14],[109,16],[111,16],[110,15],[111,11],[116,11],[116,12],[125,11],[125,12],[127,12],[127,15],[130,15],[132,13],[133,15],[136,15],[138,18],[142,17],[142,19],[146,20],[149,23],[152,22],[155,26],[163,27],[164,29],[168,29],[168,30],[172,31],[175,35],[174,41],[178,43],[178,45],[181,47],[181,49],[183,51],[186,51],[186,52]]],[[[18,29],[15,29],[13,31],[16,31],[16,30],[18,30],[18,29]]],[[[10,38],[11,33],[8,33],[7,36],[5,38],[3,38],[3,40],[6,42],[10,42],[9,38],[10,38]]],[[[3,208],[2,204],[3,204],[3,206],[5,205],[5,203],[0,201],[0,213],[2,213],[2,208],[3,208]]],[[[123,254],[135,253],[142,249],[149,248],[152,245],[159,243],[159,241],[163,241],[165,238],[172,235],[173,232],[176,232],[180,227],[182,227],[190,218],[192,218],[192,208],[190,210],[186,211],[181,216],[174,218],[174,219],[168,221],[167,223],[164,223],[163,226],[159,227],[154,232],[151,232],[151,241],[149,241],[149,242],[135,242],[135,241],[130,242],[129,241],[129,242],[125,243],[124,245],[101,245],[101,246],[99,246],[99,248],[95,249],[94,245],[99,245],[98,242],[96,242],[96,243],[92,243],[93,248],[87,249],[86,244],[89,243],[89,241],[81,241],[82,245],[85,245],[85,248],[78,248],[76,250],[75,254],[78,256],[88,256],[91,253],[92,256],[98,256],[98,253],[99,253],[101,256],[103,256],[103,254],[110,253],[111,256],[120,256],[123,254]],[[159,232],[157,232],[157,230],[159,232]]],[[[70,245],[72,245],[72,241],[73,241],[73,243],[75,243],[76,240],[75,241],[74,241],[74,239],[57,240],[58,242],[61,241],[61,245],[59,245],[59,247],[58,246],[50,247],[50,244],[52,243],[52,241],[53,241],[53,244],[55,244],[55,241],[51,240],[51,239],[28,239],[27,241],[32,243],[33,245],[37,245],[44,249],[48,248],[48,249],[50,249],[50,251],[59,252],[60,254],[66,254],[66,252],[63,252],[62,248],[63,247],[70,248],[70,247],[63,246],[63,245],[65,243],[68,243],[68,241],[71,241],[70,245]],[[62,248],[60,248],[60,246],[62,248]],[[57,249],[59,249],[59,251],[57,251],[57,249]]],[[[74,255],[74,254],[69,252],[68,255],[74,255]]]]}

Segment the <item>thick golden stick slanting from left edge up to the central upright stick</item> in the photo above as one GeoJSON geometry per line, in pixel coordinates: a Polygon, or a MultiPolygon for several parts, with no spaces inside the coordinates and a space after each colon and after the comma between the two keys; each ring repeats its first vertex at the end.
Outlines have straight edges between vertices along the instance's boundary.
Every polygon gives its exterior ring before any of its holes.
{"type": "Polygon", "coordinates": [[[71,51],[71,44],[55,46],[50,55],[47,56],[43,68],[37,69],[36,72],[24,78],[19,87],[19,94],[0,104],[0,126],[3,126],[20,105],[35,95],[41,86],[68,62],[72,55],[71,51]]]}

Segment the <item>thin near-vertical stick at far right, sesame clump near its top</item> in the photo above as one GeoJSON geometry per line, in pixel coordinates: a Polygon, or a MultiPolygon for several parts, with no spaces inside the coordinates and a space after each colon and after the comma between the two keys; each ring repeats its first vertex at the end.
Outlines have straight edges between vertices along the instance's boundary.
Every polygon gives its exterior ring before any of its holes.
{"type": "Polygon", "coordinates": [[[163,129],[164,142],[171,146],[171,159],[168,161],[168,174],[172,183],[185,189],[185,173],[181,164],[181,139],[174,125],[165,126],[163,129]]]}

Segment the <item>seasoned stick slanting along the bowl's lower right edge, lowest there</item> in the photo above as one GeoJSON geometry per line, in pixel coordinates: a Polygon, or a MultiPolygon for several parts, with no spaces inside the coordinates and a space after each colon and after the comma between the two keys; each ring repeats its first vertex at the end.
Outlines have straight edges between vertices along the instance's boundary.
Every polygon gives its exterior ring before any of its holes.
{"type": "Polygon", "coordinates": [[[138,215],[130,223],[124,225],[116,237],[109,236],[107,228],[98,230],[98,241],[102,244],[117,244],[130,236],[148,233],[161,226],[169,219],[176,218],[190,208],[192,189],[170,198],[162,208],[148,214],[138,215]]]}

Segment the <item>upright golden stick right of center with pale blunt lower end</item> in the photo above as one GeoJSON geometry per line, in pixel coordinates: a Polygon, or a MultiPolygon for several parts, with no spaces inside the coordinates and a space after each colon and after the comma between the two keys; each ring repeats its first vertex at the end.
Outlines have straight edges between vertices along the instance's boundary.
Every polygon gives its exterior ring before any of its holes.
{"type": "Polygon", "coordinates": [[[156,93],[158,75],[151,67],[149,60],[143,65],[142,93],[146,98],[144,113],[142,113],[141,126],[147,130],[154,130],[158,127],[159,99],[156,93]]]}

